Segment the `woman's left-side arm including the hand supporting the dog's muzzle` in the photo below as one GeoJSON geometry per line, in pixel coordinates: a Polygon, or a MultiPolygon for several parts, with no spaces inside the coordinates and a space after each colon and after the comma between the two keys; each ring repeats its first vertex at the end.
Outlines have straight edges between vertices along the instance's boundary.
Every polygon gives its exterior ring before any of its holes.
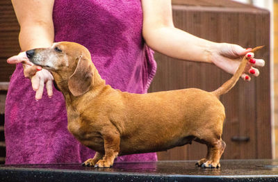
{"type": "MultiPolygon", "coordinates": [[[[49,47],[54,42],[54,23],[52,12],[54,0],[12,0],[15,15],[20,25],[19,44],[22,51],[39,47],[49,47]]],[[[23,61],[23,60],[22,60],[23,61]]],[[[10,64],[18,63],[16,59],[10,59],[10,64]]],[[[23,62],[24,76],[31,78],[33,90],[36,91],[35,99],[42,98],[44,83],[47,94],[53,94],[53,76],[45,69],[38,66],[26,65],[23,62]]]]}

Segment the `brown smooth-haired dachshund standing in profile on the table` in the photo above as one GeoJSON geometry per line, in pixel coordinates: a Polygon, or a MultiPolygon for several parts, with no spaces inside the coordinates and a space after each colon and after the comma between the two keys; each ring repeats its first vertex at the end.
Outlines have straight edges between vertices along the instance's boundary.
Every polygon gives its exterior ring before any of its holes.
{"type": "Polygon", "coordinates": [[[236,84],[246,57],[236,74],[213,92],[189,88],[130,94],[106,85],[90,52],[80,44],[58,42],[26,55],[53,74],[65,97],[69,131],[97,151],[84,165],[111,167],[117,156],[165,151],[196,141],[208,147],[206,158],[197,165],[220,167],[226,144],[221,139],[224,106],[218,97],[236,84]]]}

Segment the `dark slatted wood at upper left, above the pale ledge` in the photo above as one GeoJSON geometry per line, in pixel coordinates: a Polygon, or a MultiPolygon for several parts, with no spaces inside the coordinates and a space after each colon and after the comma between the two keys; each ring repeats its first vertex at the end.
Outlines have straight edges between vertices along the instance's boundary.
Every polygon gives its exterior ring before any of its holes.
{"type": "Polygon", "coordinates": [[[6,60],[20,51],[18,43],[19,24],[10,0],[0,1],[0,81],[9,81],[15,65],[6,60]]]}

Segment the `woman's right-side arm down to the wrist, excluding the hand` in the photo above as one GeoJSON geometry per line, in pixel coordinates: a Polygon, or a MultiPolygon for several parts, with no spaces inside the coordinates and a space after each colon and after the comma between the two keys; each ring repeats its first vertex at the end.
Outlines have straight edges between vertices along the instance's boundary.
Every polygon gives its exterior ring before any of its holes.
{"type": "Polygon", "coordinates": [[[211,63],[214,42],[175,28],[171,0],[143,0],[143,37],[152,49],[173,58],[211,63]]]}

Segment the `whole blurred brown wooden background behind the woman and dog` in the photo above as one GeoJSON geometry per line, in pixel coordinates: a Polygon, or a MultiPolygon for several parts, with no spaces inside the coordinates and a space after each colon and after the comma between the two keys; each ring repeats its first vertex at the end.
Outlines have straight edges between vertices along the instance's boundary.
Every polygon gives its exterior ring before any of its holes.
{"type": "MultiPolygon", "coordinates": [[[[259,78],[240,80],[222,96],[226,108],[222,158],[278,158],[278,0],[172,0],[174,24],[215,42],[265,48],[259,78]]],[[[10,0],[0,1],[0,163],[5,161],[4,110],[8,82],[15,67],[6,59],[19,53],[19,25],[10,0]]],[[[186,47],[184,48],[186,49],[186,47]]],[[[231,75],[214,65],[191,63],[155,54],[158,69],[149,92],[181,88],[212,91],[231,75]]],[[[22,118],[24,119],[24,118],[22,118]]],[[[15,133],[16,134],[16,133],[15,133]]],[[[159,160],[202,158],[206,146],[193,143],[158,153],[159,160]]]]}

